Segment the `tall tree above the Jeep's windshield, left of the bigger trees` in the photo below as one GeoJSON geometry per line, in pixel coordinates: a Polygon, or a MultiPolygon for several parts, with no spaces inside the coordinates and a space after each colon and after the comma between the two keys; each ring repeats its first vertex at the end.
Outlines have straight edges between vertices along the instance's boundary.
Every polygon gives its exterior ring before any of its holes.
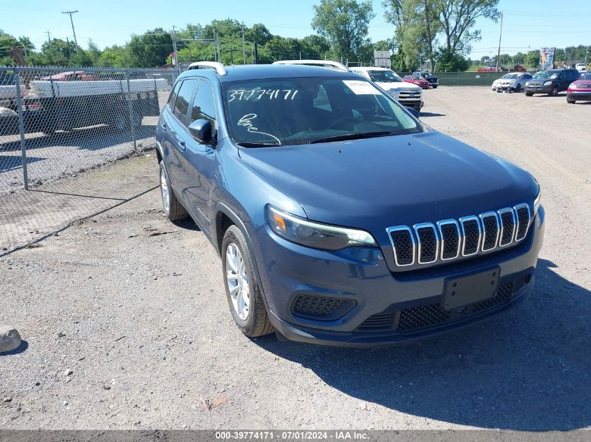
{"type": "Polygon", "coordinates": [[[370,20],[376,15],[371,1],[320,0],[314,6],[312,27],[329,40],[336,57],[356,59],[367,38],[370,20]]]}

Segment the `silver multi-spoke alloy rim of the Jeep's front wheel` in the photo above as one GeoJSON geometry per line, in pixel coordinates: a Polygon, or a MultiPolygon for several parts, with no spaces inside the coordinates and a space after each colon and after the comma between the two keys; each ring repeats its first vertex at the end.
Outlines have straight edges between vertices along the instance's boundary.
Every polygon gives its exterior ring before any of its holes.
{"type": "Polygon", "coordinates": [[[231,242],[226,249],[226,283],[232,300],[232,308],[242,321],[246,321],[250,313],[250,281],[242,253],[238,246],[231,242]]]}

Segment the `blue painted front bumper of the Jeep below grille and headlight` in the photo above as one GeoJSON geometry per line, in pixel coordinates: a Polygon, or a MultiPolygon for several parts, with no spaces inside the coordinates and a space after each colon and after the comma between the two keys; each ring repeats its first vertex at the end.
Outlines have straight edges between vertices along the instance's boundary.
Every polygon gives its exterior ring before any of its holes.
{"type": "Polygon", "coordinates": [[[392,274],[380,249],[350,248],[337,252],[309,249],[274,235],[269,226],[255,232],[255,256],[271,323],[293,341],[334,346],[387,346],[418,341],[484,321],[525,302],[534,284],[534,270],[543,242],[544,212],[539,209],[527,239],[511,253],[492,253],[487,260],[441,265],[392,274]],[[475,302],[453,312],[441,311],[446,279],[498,267],[501,286],[511,293],[475,302]],[[514,281],[522,281],[517,285],[514,281]],[[515,289],[514,289],[515,288],[515,289]],[[345,302],[333,316],[294,313],[299,297],[328,297],[345,302]],[[501,302],[502,301],[502,302],[501,302]],[[422,315],[417,327],[408,326],[422,315]],[[443,321],[425,322],[425,315],[443,321]],[[406,315],[406,325],[401,318],[406,315]],[[411,315],[411,316],[409,316],[411,315]],[[442,317],[443,317],[442,316],[442,317]],[[383,327],[376,323],[386,318],[383,327]],[[392,318],[391,322],[387,318],[392,318]],[[410,320],[408,318],[411,318],[410,320]],[[376,322],[377,321],[377,322],[376,322]],[[410,322],[409,322],[410,321],[410,322]],[[368,326],[372,325],[371,327],[368,326]]]}

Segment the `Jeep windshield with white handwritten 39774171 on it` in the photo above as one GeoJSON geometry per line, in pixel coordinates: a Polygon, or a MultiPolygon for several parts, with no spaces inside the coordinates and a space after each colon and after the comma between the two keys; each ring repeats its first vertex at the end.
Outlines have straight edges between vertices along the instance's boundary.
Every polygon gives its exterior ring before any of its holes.
{"type": "Polygon", "coordinates": [[[322,138],[422,132],[401,105],[367,80],[273,78],[222,83],[232,139],[245,147],[322,138]]]}

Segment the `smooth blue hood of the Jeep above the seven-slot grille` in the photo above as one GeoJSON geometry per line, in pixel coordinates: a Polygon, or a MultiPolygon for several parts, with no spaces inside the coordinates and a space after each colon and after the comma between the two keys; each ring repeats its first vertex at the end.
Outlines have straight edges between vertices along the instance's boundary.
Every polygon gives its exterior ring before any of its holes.
{"type": "Polygon", "coordinates": [[[525,170],[436,131],[240,156],[309,219],[372,232],[531,202],[537,189],[525,170]]]}

